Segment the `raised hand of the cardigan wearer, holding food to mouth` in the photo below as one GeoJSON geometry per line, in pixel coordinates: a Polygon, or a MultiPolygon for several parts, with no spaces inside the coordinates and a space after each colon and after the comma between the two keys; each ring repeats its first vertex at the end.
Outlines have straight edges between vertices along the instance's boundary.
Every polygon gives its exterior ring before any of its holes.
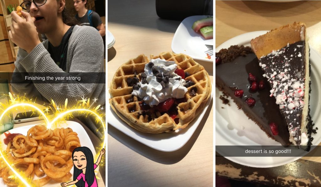
{"type": "Polygon", "coordinates": [[[22,17],[20,17],[16,11],[11,12],[11,22],[9,31],[10,40],[18,45],[20,48],[24,49],[30,53],[33,48],[40,44],[38,33],[34,25],[35,18],[32,18],[29,13],[23,12],[22,17]]]}

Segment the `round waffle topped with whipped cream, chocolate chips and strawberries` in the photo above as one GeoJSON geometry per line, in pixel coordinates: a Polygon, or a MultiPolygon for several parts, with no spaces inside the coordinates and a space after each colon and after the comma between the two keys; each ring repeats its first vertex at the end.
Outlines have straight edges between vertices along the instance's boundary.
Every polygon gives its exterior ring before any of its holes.
{"type": "Polygon", "coordinates": [[[128,125],[146,133],[185,128],[211,95],[204,67],[185,54],[141,54],[113,77],[111,108],[128,125]]]}

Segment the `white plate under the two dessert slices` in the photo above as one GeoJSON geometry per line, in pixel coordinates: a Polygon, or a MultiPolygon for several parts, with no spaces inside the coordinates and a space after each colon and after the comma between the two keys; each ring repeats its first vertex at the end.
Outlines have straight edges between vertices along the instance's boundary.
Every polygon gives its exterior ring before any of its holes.
{"type": "MultiPolygon", "coordinates": [[[[218,48],[218,52],[222,48],[229,48],[231,45],[250,46],[250,40],[265,34],[267,31],[249,32],[234,37],[218,48]]],[[[318,97],[321,93],[321,66],[317,65],[321,61],[321,56],[312,48],[310,49],[311,63],[311,94],[310,109],[311,117],[315,123],[315,127],[321,128],[320,112],[321,99],[318,97]]],[[[221,92],[216,88],[215,94],[215,142],[216,145],[281,145],[279,142],[268,138],[259,126],[239,110],[236,104],[230,99],[230,105],[223,104],[219,99],[221,92]],[[222,109],[221,107],[224,107],[222,109]],[[244,127],[244,129],[243,129],[244,127]]],[[[318,131],[317,131],[318,132],[318,131]]],[[[313,145],[321,142],[321,132],[313,135],[313,145]]],[[[226,157],[227,159],[250,167],[276,167],[288,164],[301,157],[226,157]]]]}

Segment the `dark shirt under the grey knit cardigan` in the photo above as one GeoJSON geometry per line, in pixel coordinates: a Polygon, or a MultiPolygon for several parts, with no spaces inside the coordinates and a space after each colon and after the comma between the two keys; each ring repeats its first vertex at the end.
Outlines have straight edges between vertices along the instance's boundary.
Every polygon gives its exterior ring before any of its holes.
{"type": "Polygon", "coordinates": [[[63,71],[66,71],[66,62],[67,62],[67,51],[68,51],[68,42],[73,32],[74,26],[70,27],[65,33],[64,37],[62,37],[61,43],[59,46],[54,47],[48,41],[48,52],[51,58],[55,61],[55,63],[61,68],[63,71]]]}

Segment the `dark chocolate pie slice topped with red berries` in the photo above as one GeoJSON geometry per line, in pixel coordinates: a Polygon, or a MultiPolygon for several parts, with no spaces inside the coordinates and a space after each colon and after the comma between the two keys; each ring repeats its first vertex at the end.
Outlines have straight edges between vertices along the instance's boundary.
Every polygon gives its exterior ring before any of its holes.
{"type": "Polygon", "coordinates": [[[216,53],[215,61],[216,87],[230,96],[267,136],[290,145],[287,124],[275,98],[270,97],[271,87],[252,49],[233,45],[216,53]]]}

